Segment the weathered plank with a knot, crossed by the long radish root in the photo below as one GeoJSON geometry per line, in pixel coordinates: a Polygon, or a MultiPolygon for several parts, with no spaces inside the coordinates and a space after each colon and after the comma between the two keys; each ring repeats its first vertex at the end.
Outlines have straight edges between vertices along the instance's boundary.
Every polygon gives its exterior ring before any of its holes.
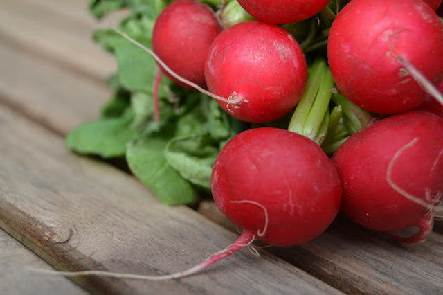
{"type": "MultiPolygon", "coordinates": [[[[161,204],[133,177],[78,157],[62,138],[0,109],[0,226],[60,270],[166,274],[223,249],[237,234],[185,206],[161,204]]],[[[336,293],[287,262],[246,250],[168,282],[75,278],[106,294],[336,293]]]]}

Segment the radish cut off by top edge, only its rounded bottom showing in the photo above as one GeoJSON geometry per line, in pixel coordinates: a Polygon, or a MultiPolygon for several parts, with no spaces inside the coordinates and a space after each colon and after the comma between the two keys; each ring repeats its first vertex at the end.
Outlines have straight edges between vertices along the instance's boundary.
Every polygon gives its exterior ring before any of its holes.
{"type": "Polygon", "coordinates": [[[304,21],[320,12],[329,0],[237,0],[256,19],[272,24],[304,21]]]}

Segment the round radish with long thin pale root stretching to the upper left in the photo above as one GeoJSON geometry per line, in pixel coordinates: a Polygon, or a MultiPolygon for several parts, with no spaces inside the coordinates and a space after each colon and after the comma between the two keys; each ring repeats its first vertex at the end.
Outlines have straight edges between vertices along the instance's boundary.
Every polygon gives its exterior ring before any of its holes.
{"type": "Polygon", "coordinates": [[[287,114],[302,97],[307,64],[291,34],[274,24],[244,21],[215,38],[206,61],[206,84],[217,96],[247,101],[219,105],[239,120],[269,122],[287,114]]]}

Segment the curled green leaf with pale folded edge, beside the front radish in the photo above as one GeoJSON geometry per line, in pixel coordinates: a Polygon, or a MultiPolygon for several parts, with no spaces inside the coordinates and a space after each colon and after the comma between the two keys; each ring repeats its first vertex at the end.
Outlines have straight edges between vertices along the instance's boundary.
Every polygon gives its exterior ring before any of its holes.
{"type": "Polygon", "coordinates": [[[219,148],[205,135],[174,138],[165,152],[168,163],[184,179],[207,189],[210,189],[210,175],[218,154],[219,148]]]}

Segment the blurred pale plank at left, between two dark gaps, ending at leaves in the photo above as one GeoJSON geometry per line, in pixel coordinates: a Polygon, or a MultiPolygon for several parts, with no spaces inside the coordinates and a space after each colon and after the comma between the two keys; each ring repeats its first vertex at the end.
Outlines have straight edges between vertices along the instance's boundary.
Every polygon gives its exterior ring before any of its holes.
{"type": "Polygon", "coordinates": [[[0,42],[0,102],[66,134],[98,117],[111,89],[0,42]]]}

